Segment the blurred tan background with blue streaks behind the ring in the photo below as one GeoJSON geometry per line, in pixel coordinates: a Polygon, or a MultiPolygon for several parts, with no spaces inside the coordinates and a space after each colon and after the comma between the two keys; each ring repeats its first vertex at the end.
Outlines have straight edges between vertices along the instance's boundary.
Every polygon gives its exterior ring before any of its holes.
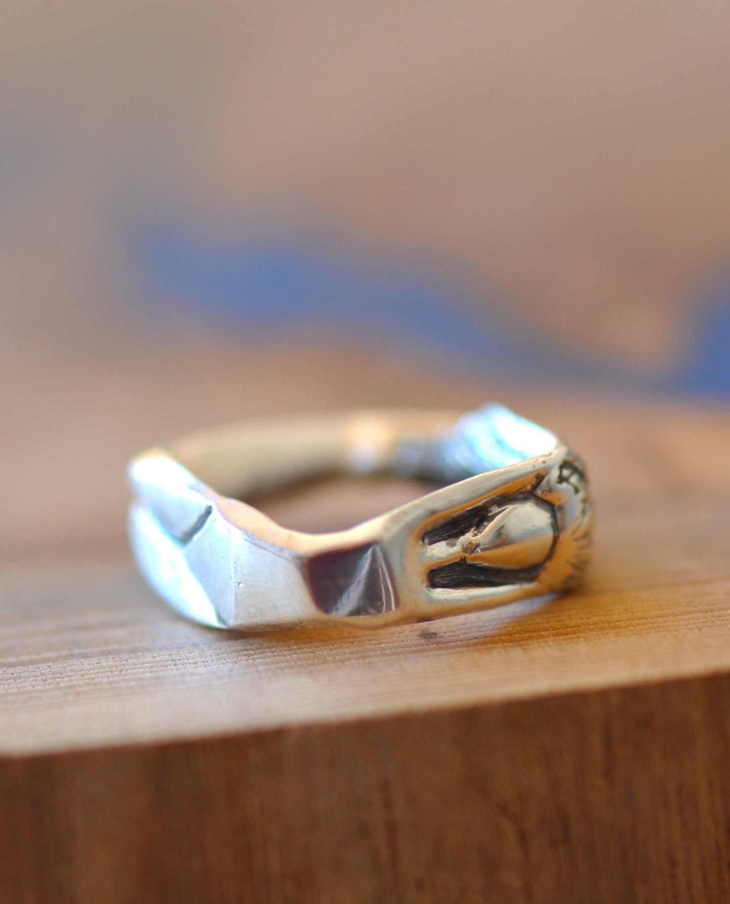
{"type": "Polygon", "coordinates": [[[126,458],[249,414],[726,410],[729,46],[720,2],[4,4],[0,557],[121,542],[126,458]]]}

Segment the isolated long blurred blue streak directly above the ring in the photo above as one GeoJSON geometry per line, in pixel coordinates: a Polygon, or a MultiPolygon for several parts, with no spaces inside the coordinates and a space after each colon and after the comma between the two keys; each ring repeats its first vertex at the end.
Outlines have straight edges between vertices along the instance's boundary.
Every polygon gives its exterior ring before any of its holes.
{"type": "Polygon", "coordinates": [[[159,295],[247,328],[396,336],[500,367],[520,357],[522,344],[488,314],[479,322],[463,290],[407,268],[267,243],[211,249],[159,235],[145,241],[144,259],[159,295]]]}

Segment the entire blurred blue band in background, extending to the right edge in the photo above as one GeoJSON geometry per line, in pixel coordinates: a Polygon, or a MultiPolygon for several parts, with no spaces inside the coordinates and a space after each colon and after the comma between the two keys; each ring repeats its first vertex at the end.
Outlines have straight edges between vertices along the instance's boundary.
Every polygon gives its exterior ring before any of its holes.
{"type": "Polygon", "coordinates": [[[157,298],[172,298],[226,328],[396,339],[520,377],[730,395],[730,274],[703,306],[704,322],[693,325],[691,360],[654,379],[546,345],[537,331],[513,333],[497,306],[483,298],[476,304],[467,288],[406,264],[376,268],[281,240],[211,247],[169,230],[146,233],[137,248],[157,298]]]}

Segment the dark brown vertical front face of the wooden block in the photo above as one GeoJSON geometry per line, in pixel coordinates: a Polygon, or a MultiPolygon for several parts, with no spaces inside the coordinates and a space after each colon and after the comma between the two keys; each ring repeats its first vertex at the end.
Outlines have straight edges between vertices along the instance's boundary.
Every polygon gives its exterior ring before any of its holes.
{"type": "Polygon", "coordinates": [[[0,760],[18,901],[730,898],[730,676],[0,760]],[[146,895],[146,897],[145,897],[146,895]]]}

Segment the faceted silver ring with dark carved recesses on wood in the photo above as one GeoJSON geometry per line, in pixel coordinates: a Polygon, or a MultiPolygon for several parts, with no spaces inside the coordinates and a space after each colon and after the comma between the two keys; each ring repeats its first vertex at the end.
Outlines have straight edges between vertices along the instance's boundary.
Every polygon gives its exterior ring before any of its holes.
{"type": "Polygon", "coordinates": [[[583,462],[500,405],[250,421],[150,449],[129,477],[140,570],[204,625],[430,620],[570,589],[589,557],[583,462]],[[338,472],[439,488],[321,534],[287,530],[241,501],[338,472]]]}

